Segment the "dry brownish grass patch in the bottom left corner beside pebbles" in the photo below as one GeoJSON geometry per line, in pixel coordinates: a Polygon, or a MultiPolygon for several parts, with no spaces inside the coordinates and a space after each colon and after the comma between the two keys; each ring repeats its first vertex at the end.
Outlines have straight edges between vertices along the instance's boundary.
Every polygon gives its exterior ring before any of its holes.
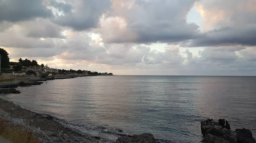
{"type": "Polygon", "coordinates": [[[0,136],[12,143],[40,143],[31,132],[23,131],[20,126],[10,125],[2,119],[0,119],[0,136]]]}

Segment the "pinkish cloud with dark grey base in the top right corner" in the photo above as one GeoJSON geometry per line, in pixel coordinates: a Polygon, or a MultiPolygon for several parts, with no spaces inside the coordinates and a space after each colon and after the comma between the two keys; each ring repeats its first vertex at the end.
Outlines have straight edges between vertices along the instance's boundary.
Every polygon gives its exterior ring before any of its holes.
{"type": "Polygon", "coordinates": [[[256,45],[255,0],[201,0],[196,5],[204,33],[181,46],[256,45]]]}

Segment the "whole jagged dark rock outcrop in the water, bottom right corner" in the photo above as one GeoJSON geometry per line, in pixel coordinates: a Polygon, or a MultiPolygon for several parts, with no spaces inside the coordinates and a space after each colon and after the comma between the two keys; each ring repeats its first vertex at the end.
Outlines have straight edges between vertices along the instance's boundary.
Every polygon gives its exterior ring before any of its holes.
{"type": "Polygon", "coordinates": [[[226,125],[223,125],[223,122],[225,123],[224,119],[220,119],[218,122],[212,119],[201,121],[201,133],[204,136],[204,143],[255,143],[250,130],[236,129],[236,132],[234,132],[230,130],[227,121],[226,125]]]}

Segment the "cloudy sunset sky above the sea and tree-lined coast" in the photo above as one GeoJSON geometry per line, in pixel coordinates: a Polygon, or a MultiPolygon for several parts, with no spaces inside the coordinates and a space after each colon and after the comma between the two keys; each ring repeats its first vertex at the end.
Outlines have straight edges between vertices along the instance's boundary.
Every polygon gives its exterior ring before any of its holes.
{"type": "Polygon", "coordinates": [[[0,0],[10,61],[115,75],[256,76],[256,0],[0,0]]]}

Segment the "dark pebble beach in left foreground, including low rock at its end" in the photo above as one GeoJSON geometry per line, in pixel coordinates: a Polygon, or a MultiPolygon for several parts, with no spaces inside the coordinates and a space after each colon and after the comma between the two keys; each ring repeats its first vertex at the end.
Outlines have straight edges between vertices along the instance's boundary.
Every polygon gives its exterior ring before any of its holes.
{"type": "Polygon", "coordinates": [[[31,132],[41,143],[156,143],[152,134],[120,134],[116,141],[87,135],[64,126],[57,118],[23,109],[3,98],[0,98],[0,119],[31,132]]]}

